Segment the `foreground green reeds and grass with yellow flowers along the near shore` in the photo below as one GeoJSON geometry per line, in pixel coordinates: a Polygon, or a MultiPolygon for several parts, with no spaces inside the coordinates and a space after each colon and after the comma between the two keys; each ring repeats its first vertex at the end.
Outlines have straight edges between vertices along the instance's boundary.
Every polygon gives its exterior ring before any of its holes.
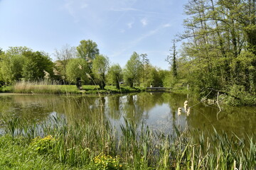
{"type": "MultiPolygon", "coordinates": [[[[100,114],[99,114],[100,115],[100,114]]],[[[235,135],[214,132],[198,139],[196,131],[175,134],[138,128],[120,130],[96,118],[67,123],[52,118],[29,124],[4,120],[0,137],[0,167],[4,169],[255,169],[256,145],[235,135]],[[41,137],[37,137],[41,135],[41,137]]]]}

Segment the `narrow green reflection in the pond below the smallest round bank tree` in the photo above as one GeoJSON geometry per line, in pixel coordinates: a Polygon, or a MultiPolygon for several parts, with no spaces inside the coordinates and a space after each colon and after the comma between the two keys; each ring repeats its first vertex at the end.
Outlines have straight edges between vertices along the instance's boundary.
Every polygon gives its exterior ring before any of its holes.
{"type": "Polygon", "coordinates": [[[121,112],[120,112],[120,95],[114,95],[109,96],[107,98],[108,101],[108,109],[107,109],[107,115],[110,116],[110,118],[114,120],[119,120],[121,118],[121,112]]]}

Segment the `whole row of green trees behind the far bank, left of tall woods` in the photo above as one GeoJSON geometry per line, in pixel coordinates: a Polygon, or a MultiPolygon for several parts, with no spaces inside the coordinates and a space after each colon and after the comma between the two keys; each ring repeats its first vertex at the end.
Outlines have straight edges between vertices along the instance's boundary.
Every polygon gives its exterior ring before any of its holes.
{"type": "Polygon", "coordinates": [[[28,47],[10,47],[0,52],[1,85],[17,81],[58,81],[60,84],[92,84],[101,89],[106,84],[117,86],[169,86],[169,71],[153,67],[146,54],[134,52],[124,68],[111,64],[101,55],[96,42],[81,40],[78,47],[63,45],[55,50],[52,62],[46,52],[28,47]]]}

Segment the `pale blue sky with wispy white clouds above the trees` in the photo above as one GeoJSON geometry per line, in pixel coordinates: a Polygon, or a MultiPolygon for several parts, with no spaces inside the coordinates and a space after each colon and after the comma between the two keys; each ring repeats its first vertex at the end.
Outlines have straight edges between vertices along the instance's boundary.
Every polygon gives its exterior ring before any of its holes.
{"type": "Polygon", "coordinates": [[[133,52],[169,69],[171,40],[183,33],[188,0],[0,0],[0,47],[26,46],[53,52],[80,40],[97,43],[111,64],[127,63],[133,52]]]}

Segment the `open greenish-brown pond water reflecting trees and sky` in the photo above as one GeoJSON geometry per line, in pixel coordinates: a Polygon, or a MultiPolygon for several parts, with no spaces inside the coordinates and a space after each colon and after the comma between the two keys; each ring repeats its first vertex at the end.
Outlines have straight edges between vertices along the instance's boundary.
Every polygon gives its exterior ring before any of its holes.
{"type": "MultiPolygon", "coordinates": [[[[46,121],[53,115],[64,116],[68,122],[85,118],[108,119],[112,125],[124,118],[168,132],[174,125],[181,128],[218,131],[238,136],[255,135],[255,107],[206,105],[193,96],[172,93],[114,94],[108,96],[58,96],[0,94],[0,115],[17,115],[23,120],[46,121]],[[183,108],[188,101],[190,115],[183,108]],[[178,108],[182,108],[178,116],[178,108]],[[217,116],[218,113],[218,116],[217,116]]],[[[93,120],[93,119],[92,119],[93,120]]]]}

